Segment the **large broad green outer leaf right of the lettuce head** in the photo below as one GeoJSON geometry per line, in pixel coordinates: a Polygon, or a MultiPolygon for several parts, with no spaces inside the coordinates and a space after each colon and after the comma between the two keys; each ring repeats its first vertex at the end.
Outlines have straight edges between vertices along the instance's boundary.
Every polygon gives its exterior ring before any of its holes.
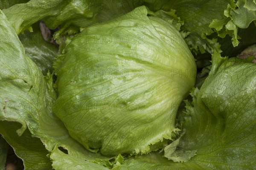
{"type": "Polygon", "coordinates": [[[201,87],[186,101],[177,150],[197,150],[190,161],[175,163],[163,153],[129,158],[113,169],[255,169],[256,64],[212,56],[212,69],[201,87]]]}

